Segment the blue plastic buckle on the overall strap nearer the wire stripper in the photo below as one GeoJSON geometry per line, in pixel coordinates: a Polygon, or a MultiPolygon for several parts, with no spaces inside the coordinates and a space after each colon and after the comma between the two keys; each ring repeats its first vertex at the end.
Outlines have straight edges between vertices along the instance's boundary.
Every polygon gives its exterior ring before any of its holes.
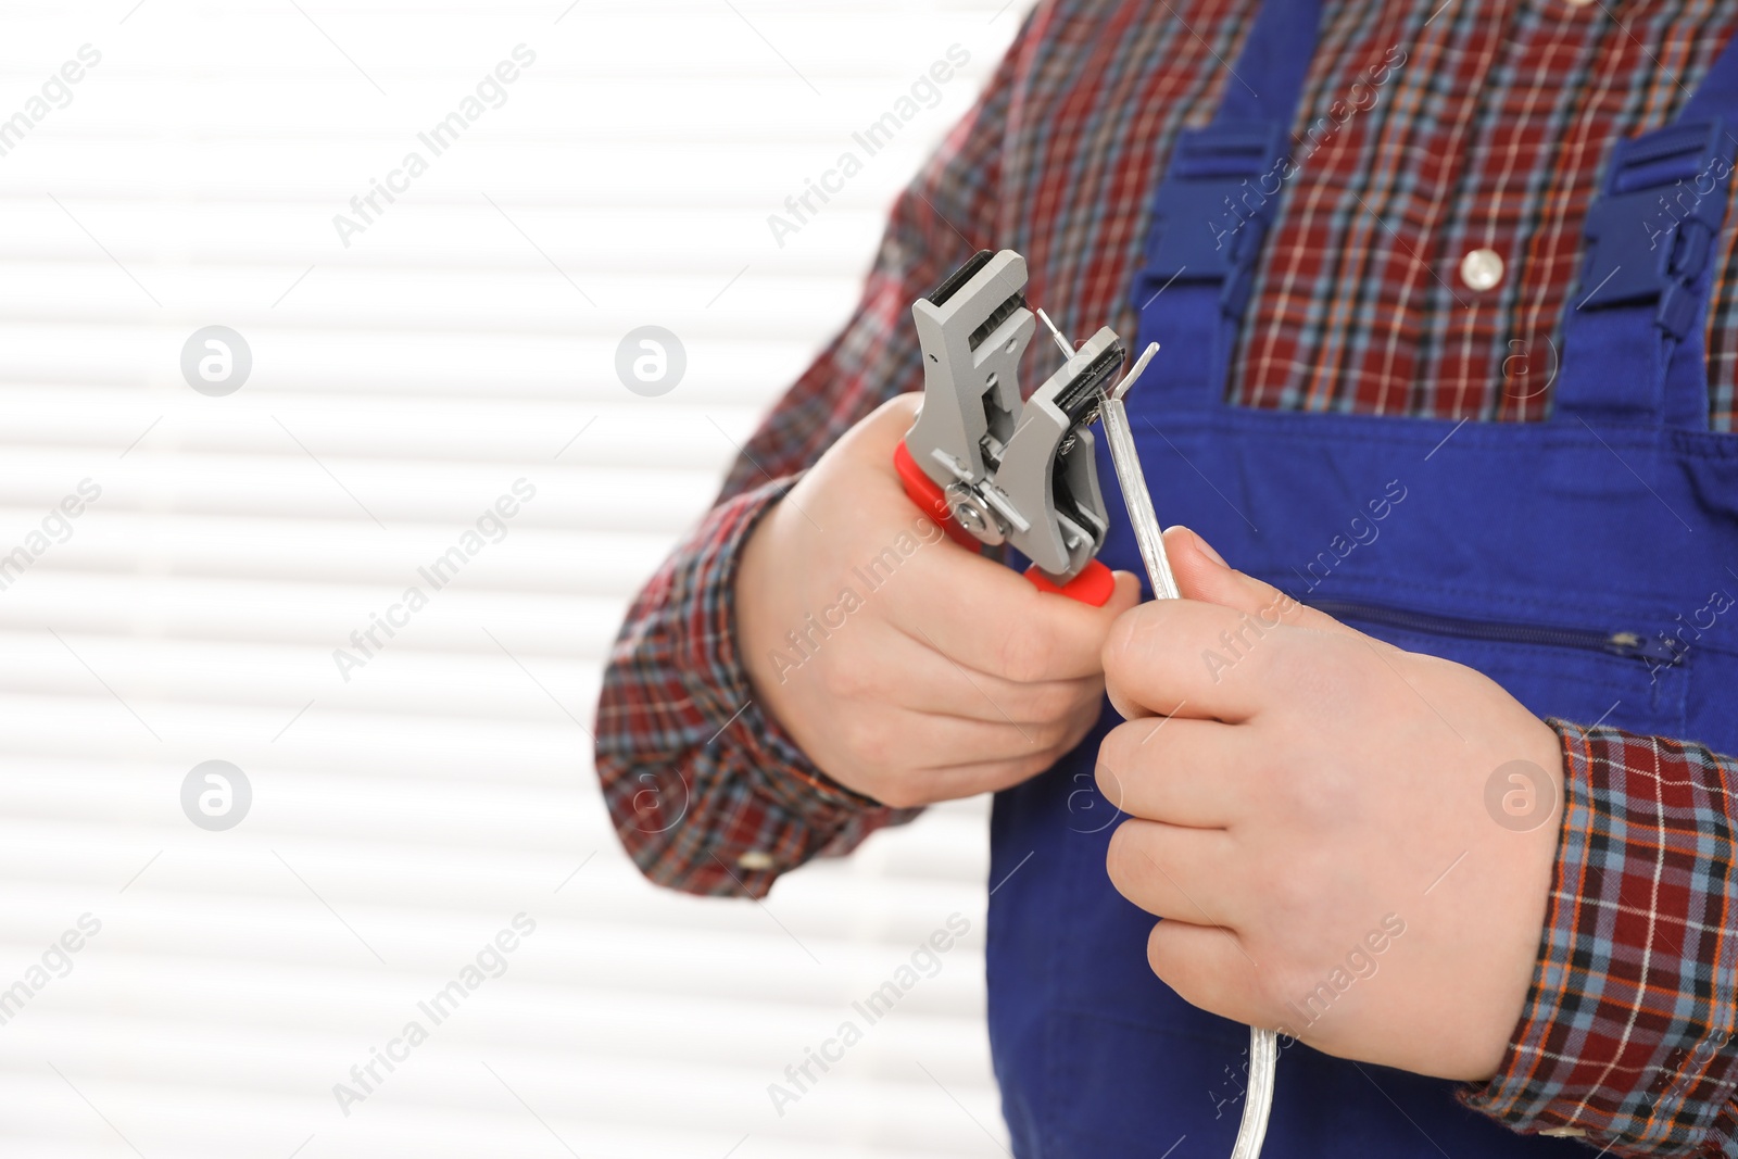
{"type": "Polygon", "coordinates": [[[1152,198],[1142,294],[1173,280],[1218,281],[1220,311],[1241,318],[1255,259],[1279,207],[1286,129],[1232,122],[1178,134],[1152,198]],[[1269,188],[1270,186],[1270,188],[1269,188]]]}

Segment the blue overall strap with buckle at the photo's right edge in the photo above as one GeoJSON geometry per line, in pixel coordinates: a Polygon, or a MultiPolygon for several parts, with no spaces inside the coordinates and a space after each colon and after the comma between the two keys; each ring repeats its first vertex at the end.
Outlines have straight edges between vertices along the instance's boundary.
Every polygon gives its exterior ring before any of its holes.
{"type": "Polygon", "coordinates": [[[1587,210],[1554,422],[1708,429],[1705,325],[1738,156],[1738,40],[1675,122],[1618,141],[1587,210]]]}

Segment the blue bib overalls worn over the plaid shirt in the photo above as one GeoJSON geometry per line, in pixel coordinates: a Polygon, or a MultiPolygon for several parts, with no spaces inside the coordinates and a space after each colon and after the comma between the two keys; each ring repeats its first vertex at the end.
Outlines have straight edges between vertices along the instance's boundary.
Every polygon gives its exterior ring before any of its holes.
{"type": "MultiPolygon", "coordinates": [[[[1608,162],[1549,421],[1229,407],[1227,356],[1283,196],[1260,212],[1244,198],[1251,219],[1229,243],[1213,238],[1225,198],[1290,149],[1317,17],[1314,0],[1265,5],[1236,68],[1262,96],[1225,85],[1215,122],[1184,134],[1154,196],[1135,349],[1158,341],[1163,353],[1130,393],[1130,417],[1159,518],[1359,629],[1486,672],[1538,716],[1738,752],[1738,632],[1721,620],[1682,646],[1712,593],[1738,593],[1724,568],[1738,568],[1738,436],[1708,431],[1703,370],[1710,255],[1738,148],[1722,127],[1738,127],[1733,47],[1674,125],[1620,142],[1608,162]],[[1703,189],[1719,179],[1712,196],[1679,202],[1681,224],[1653,236],[1660,195],[1698,177],[1703,189]]],[[[1112,527],[1102,558],[1140,573],[1102,440],[1100,455],[1112,527]]],[[[1248,1030],[1149,971],[1152,917],[1105,878],[1116,815],[1093,763],[1116,719],[1107,707],[1064,763],[996,798],[987,954],[1003,1110],[1018,1159],[1225,1159],[1248,1030]]],[[[1264,1154],[1592,1154],[1510,1133],[1455,1089],[1291,1044],[1264,1154]]]]}

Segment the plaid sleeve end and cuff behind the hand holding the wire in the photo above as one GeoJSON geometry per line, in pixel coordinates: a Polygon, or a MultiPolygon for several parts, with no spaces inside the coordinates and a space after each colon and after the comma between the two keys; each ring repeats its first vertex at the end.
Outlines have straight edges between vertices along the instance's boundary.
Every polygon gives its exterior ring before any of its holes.
{"type": "Polygon", "coordinates": [[[1695,744],[1547,723],[1564,808],[1540,959],[1502,1069],[1462,1098],[1611,1156],[1738,1154],[1738,770],[1695,744]]]}

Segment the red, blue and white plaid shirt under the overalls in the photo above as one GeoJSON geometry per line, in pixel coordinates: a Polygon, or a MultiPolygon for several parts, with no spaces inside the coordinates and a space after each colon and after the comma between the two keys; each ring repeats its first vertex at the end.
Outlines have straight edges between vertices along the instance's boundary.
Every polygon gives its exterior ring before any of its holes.
{"type": "MultiPolygon", "coordinates": [[[[897,200],[845,330],[780,400],[718,506],[634,601],[598,705],[598,775],[653,881],[763,897],[914,813],[829,780],[753,700],[732,626],[758,516],[878,403],[923,386],[911,302],[978,248],[1025,254],[1069,332],[1135,332],[1128,287],[1171,142],[1210,120],[1257,0],[1045,0],[897,200]]],[[[1291,182],[1229,375],[1244,407],[1547,415],[1582,224],[1609,146],[1679,113],[1738,0],[1338,0],[1298,123],[1356,104],[1291,182]],[[1356,85],[1373,85],[1371,103],[1356,85]],[[1472,288],[1460,261],[1503,261],[1472,288]]],[[[1342,120],[1342,118],[1335,118],[1342,120]]],[[[1738,182],[1735,182],[1738,186],[1738,182]]],[[[1729,214],[1729,221],[1738,215],[1729,214]]],[[[1733,229],[1708,407],[1735,431],[1733,229]]],[[[1034,344],[1036,348],[1036,344],[1034,344]]],[[[1036,351],[1034,351],[1036,354],[1036,351]]],[[[1039,381],[1032,370],[1022,377],[1039,381]]],[[[1509,1056],[1465,1100],[1613,1156],[1738,1156],[1738,761],[1552,721],[1568,792],[1540,966],[1509,1056]]]]}

